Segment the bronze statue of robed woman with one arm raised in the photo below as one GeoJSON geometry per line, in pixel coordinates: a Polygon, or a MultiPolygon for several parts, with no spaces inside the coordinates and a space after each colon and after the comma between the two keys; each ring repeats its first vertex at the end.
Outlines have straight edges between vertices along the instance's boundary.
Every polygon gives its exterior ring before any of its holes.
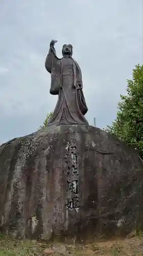
{"type": "Polygon", "coordinates": [[[50,94],[59,95],[51,124],[88,124],[84,115],[88,112],[82,92],[82,74],[77,62],[72,58],[72,45],[64,45],[63,58],[56,56],[51,40],[49,53],[46,57],[45,68],[51,74],[50,94]]]}

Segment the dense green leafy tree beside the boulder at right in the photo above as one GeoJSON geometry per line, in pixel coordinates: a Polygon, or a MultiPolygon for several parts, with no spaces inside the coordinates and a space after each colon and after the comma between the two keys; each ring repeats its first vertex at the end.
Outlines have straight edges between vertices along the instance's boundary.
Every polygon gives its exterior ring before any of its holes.
{"type": "Polygon", "coordinates": [[[143,65],[135,66],[127,83],[127,95],[120,95],[117,117],[105,131],[135,148],[143,158],[143,65]]]}

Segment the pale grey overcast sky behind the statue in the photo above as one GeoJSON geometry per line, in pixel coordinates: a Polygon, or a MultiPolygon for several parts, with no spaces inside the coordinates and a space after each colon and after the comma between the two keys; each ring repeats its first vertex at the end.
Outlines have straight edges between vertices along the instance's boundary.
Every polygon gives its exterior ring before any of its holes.
{"type": "Polygon", "coordinates": [[[86,117],[102,128],[143,62],[143,1],[0,0],[0,33],[0,144],[36,131],[54,109],[44,66],[51,39],[59,57],[63,44],[73,45],[86,117]]]}

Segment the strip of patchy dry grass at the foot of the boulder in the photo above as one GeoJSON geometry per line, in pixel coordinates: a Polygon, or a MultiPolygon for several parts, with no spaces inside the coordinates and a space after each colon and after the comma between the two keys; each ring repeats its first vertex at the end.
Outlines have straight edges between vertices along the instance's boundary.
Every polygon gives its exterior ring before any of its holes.
{"type": "MultiPolygon", "coordinates": [[[[143,237],[97,242],[88,245],[66,245],[67,254],[75,256],[142,256],[143,237]],[[68,254],[69,253],[69,254],[68,254]]],[[[63,246],[58,243],[57,246],[63,246]]],[[[37,241],[10,240],[0,236],[0,256],[42,256],[50,244],[37,241]]],[[[58,251],[53,256],[61,255],[58,251]]]]}

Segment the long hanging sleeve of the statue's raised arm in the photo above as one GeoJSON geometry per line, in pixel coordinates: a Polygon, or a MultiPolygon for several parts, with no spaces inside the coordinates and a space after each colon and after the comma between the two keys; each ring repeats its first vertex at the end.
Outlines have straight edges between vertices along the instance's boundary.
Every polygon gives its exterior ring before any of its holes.
{"type": "Polygon", "coordinates": [[[57,95],[61,88],[61,60],[56,57],[54,47],[49,49],[45,68],[51,74],[50,94],[57,95]]]}

